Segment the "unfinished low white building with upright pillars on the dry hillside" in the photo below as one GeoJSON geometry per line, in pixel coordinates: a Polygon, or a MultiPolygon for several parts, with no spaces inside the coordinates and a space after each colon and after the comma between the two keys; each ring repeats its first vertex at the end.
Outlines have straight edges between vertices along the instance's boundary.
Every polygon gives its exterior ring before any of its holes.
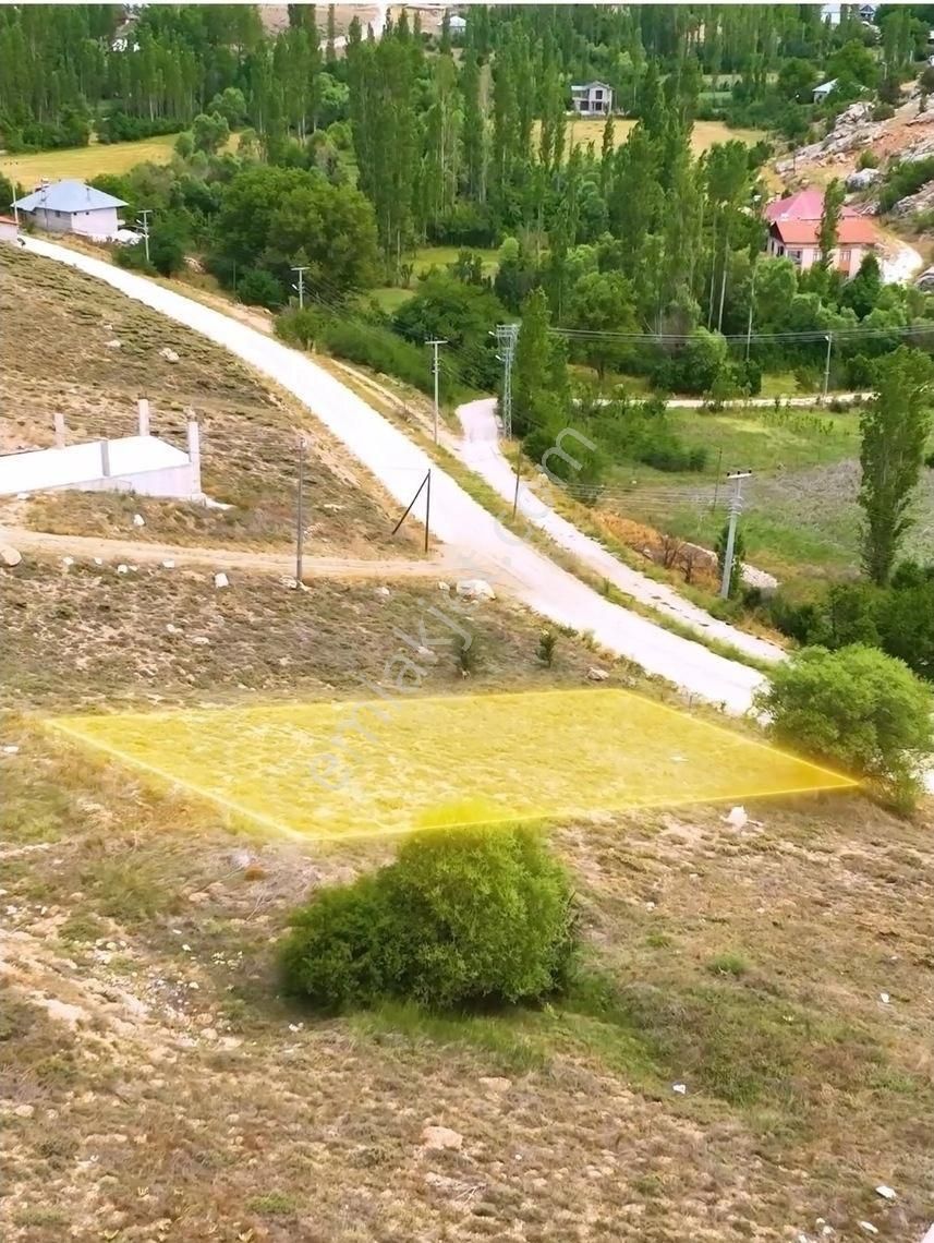
{"type": "Polygon", "coordinates": [[[139,403],[139,435],[65,444],[56,415],[55,449],[0,457],[0,496],[20,492],[138,492],[178,501],[204,501],[201,450],[195,420],[188,424],[188,452],[149,435],[149,403],[139,403]]]}

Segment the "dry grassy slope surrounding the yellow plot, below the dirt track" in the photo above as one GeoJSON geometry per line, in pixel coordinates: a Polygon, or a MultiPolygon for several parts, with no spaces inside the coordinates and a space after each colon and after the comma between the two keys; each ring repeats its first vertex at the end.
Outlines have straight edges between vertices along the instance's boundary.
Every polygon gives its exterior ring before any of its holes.
{"type": "MultiPolygon", "coordinates": [[[[359,695],[440,593],[238,576],[221,598],[206,578],[0,571],[0,1236],[749,1243],[818,1238],[822,1219],[838,1238],[861,1221],[881,1243],[920,1238],[927,813],[843,793],[758,799],[743,829],[724,807],[560,819],[584,940],[566,997],[318,1016],[279,994],[276,941],[386,842],[241,833],[14,713],[359,695]],[[426,1126],[456,1146],[430,1149],[426,1126]]],[[[530,614],[496,600],[472,624],[483,666],[465,680],[440,660],[432,696],[586,685],[580,638],[549,670],[530,614]]],[[[622,685],[626,666],[596,659],[622,685]]]]}

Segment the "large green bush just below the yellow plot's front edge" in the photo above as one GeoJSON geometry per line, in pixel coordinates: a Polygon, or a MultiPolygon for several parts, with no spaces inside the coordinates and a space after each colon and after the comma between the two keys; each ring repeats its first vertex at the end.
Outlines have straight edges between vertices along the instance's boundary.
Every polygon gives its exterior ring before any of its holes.
{"type": "Polygon", "coordinates": [[[416,834],[374,876],[325,890],[293,919],[282,966],[323,1009],[452,1009],[560,991],[574,947],[570,883],[542,838],[471,827],[416,834]]]}

